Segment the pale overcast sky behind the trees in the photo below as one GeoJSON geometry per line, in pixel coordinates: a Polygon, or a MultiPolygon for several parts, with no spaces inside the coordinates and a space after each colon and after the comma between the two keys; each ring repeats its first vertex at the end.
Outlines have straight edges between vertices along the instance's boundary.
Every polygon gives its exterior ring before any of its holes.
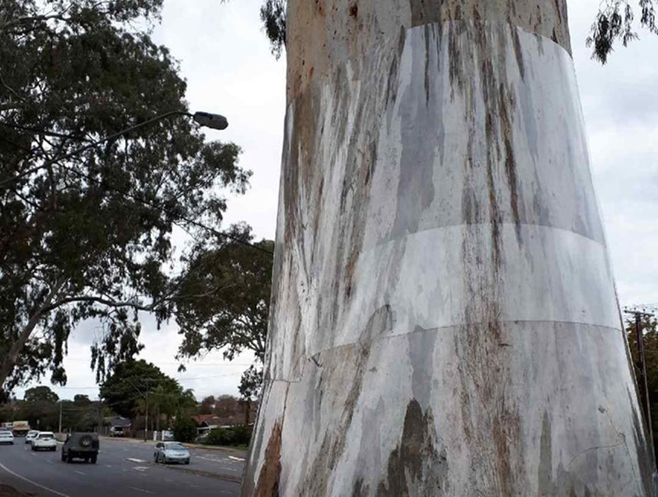
{"type": "MultiPolygon", "coordinates": [[[[241,164],[254,172],[251,188],[231,198],[226,223],[246,221],[259,237],[276,228],[285,112],[285,61],[270,54],[259,21],[262,0],[165,0],[154,37],[180,60],[192,110],[228,117],[226,132],[208,137],[244,149],[241,164]]],[[[585,38],[600,0],[572,0],[569,21],[580,95],[585,111],[592,171],[622,306],[658,303],[658,37],[618,48],[607,66],[590,60],[585,38]]],[[[89,346],[97,330],[81,326],[69,340],[64,361],[69,383],[53,387],[61,398],[97,396],[89,369],[89,346]]],[[[145,322],[141,357],[193,388],[196,396],[237,395],[242,371],[252,357],[232,364],[219,353],[178,374],[175,324],[155,330],[145,322]]],[[[47,383],[47,380],[46,380],[47,383]]],[[[23,389],[16,391],[19,398],[23,389]]]]}

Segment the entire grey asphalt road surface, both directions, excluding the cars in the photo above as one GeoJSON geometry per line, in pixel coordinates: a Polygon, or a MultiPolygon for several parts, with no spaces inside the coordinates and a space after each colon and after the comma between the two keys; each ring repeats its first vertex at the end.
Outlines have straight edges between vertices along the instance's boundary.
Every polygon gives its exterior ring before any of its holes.
{"type": "Polygon", "coordinates": [[[33,452],[17,438],[0,445],[0,483],[38,497],[239,496],[240,452],[191,449],[189,465],[153,462],[153,444],[100,441],[96,464],[61,461],[56,452],[33,452]]]}

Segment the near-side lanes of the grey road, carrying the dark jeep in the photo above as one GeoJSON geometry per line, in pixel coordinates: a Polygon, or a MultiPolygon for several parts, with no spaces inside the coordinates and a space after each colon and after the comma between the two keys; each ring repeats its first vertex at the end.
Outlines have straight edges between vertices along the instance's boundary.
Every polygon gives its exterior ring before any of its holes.
{"type": "Polygon", "coordinates": [[[193,490],[195,496],[237,497],[239,484],[189,472],[168,471],[161,466],[134,463],[121,457],[104,457],[98,463],[60,460],[57,452],[32,452],[30,446],[0,447],[0,481],[38,496],[110,497],[158,494],[179,497],[193,490]]]}

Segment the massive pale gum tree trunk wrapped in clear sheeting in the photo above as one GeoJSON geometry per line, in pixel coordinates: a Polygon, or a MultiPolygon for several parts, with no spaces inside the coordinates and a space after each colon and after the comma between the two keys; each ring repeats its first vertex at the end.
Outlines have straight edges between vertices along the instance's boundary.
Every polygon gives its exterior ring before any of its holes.
{"type": "Polygon", "coordinates": [[[289,0],[242,495],[650,496],[565,0],[289,0]]]}

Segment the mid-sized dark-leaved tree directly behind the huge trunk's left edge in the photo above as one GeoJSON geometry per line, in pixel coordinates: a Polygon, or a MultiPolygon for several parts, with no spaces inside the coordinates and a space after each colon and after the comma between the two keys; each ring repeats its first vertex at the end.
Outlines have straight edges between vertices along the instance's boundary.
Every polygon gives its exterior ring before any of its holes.
{"type": "Polygon", "coordinates": [[[250,350],[257,365],[242,376],[240,388],[251,398],[260,387],[265,357],[274,243],[255,243],[259,251],[237,242],[253,239],[244,224],[228,233],[233,239],[197,243],[176,281],[176,323],[183,335],[178,356],[193,359],[222,350],[231,361],[250,350]]]}

